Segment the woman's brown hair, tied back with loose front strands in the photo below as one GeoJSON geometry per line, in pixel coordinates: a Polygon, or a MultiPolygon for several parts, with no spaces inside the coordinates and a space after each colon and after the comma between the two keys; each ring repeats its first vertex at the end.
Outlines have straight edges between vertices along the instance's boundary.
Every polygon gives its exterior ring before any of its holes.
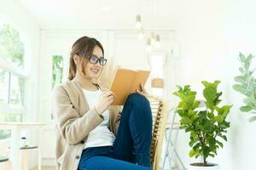
{"type": "MultiPolygon", "coordinates": [[[[73,43],[72,50],[69,59],[69,73],[68,79],[73,80],[76,75],[77,65],[73,61],[73,55],[77,54],[81,58],[81,66],[84,67],[88,62],[88,57],[93,53],[93,49],[98,46],[102,49],[102,54],[104,56],[104,49],[101,42],[97,41],[95,38],[91,37],[80,37],[76,42],[73,43]]],[[[85,73],[84,73],[85,74],[85,73]]]]}

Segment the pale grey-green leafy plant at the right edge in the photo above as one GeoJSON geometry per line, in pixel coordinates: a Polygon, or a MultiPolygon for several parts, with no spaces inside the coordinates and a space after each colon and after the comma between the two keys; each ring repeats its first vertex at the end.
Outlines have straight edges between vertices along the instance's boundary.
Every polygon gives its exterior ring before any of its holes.
{"type": "Polygon", "coordinates": [[[247,57],[244,54],[239,54],[239,60],[241,62],[241,67],[239,71],[241,75],[235,77],[236,84],[233,85],[233,88],[244,94],[246,97],[243,99],[245,105],[240,107],[240,111],[250,112],[254,116],[250,117],[249,122],[256,121],[256,78],[253,77],[253,70],[250,70],[250,65],[254,56],[249,54],[247,57]]]}

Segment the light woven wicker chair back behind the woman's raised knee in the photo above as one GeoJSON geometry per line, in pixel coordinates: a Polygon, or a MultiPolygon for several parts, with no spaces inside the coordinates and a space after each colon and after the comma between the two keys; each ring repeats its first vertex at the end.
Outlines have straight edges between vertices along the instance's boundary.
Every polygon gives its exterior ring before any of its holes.
{"type": "Polygon", "coordinates": [[[168,120],[167,104],[164,99],[160,99],[156,96],[147,96],[147,98],[149,100],[153,116],[153,138],[150,150],[150,161],[151,167],[154,170],[159,170],[162,144],[168,120]]]}

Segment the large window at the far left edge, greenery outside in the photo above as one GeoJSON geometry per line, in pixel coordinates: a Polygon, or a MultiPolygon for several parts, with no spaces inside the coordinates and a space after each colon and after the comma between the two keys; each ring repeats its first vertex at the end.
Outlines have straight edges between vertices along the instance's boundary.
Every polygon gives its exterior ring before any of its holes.
{"type": "MultiPolygon", "coordinates": [[[[24,43],[20,33],[0,18],[0,122],[21,122],[25,113],[24,43]]],[[[0,139],[10,137],[0,130],[0,139]]]]}

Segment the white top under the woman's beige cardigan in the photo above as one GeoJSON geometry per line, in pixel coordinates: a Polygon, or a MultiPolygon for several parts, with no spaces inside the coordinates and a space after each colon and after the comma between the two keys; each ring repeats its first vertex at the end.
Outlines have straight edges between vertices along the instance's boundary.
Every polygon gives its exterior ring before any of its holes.
{"type": "MultiPolygon", "coordinates": [[[[98,101],[101,90],[97,91],[89,91],[83,89],[85,98],[88,102],[88,105],[90,108],[93,108],[96,105],[96,102],[98,101]]],[[[102,113],[102,116],[104,117],[104,121],[99,124],[95,129],[90,131],[88,135],[88,139],[85,142],[85,148],[89,147],[97,147],[97,146],[109,146],[113,145],[113,141],[115,139],[115,136],[112,132],[109,130],[109,111],[104,111],[102,113]]]]}

